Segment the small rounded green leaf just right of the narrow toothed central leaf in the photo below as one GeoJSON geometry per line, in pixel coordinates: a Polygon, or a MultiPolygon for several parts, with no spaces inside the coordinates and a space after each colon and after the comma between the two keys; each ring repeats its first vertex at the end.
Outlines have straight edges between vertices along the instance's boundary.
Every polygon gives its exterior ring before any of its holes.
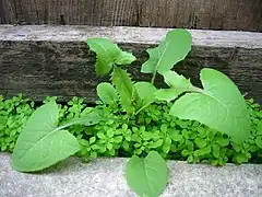
{"type": "Polygon", "coordinates": [[[155,101],[156,88],[148,82],[136,82],[134,84],[136,91],[138,107],[135,114],[139,114],[143,108],[155,101]]]}

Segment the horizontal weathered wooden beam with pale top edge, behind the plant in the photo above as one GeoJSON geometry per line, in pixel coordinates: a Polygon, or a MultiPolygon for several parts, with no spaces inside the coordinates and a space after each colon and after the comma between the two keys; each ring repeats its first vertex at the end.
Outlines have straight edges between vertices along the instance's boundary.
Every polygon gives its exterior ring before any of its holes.
{"type": "MultiPolygon", "coordinates": [[[[73,95],[95,100],[99,79],[95,56],[86,46],[87,37],[110,37],[133,51],[139,60],[130,68],[134,80],[150,80],[140,73],[147,59],[145,49],[155,46],[167,28],[91,26],[0,25],[0,94],[26,93],[35,100],[56,95],[67,101],[73,95]]],[[[212,67],[226,73],[241,90],[261,101],[262,34],[234,31],[191,30],[193,48],[176,69],[200,84],[199,71],[212,67]]],[[[163,86],[163,79],[156,79],[163,86]]]]}

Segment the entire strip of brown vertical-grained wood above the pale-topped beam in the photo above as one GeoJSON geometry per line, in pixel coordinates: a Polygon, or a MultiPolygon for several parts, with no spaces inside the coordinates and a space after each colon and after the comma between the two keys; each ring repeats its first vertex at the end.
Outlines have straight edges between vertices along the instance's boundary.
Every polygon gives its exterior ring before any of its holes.
{"type": "Polygon", "coordinates": [[[1,0],[2,23],[262,31],[261,0],[1,0]]]}

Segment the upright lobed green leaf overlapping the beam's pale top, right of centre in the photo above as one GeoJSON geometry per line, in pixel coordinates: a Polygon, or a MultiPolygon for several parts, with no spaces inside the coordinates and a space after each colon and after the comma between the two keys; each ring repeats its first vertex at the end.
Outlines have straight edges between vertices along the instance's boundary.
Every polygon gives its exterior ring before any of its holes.
{"type": "Polygon", "coordinates": [[[192,37],[187,30],[169,31],[166,38],[156,48],[146,51],[150,59],[142,65],[144,73],[164,73],[174,65],[183,60],[191,50],[192,37]]]}

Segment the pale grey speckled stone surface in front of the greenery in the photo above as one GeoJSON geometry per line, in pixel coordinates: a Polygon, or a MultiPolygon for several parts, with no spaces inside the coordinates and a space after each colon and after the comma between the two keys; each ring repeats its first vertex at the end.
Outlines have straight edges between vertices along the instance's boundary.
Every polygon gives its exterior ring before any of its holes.
{"type": "MultiPolygon", "coordinates": [[[[133,197],[124,179],[127,159],[81,163],[68,159],[38,174],[15,172],[0,154],[0,197],[133,197]]],[[[262,165],[214,167],[168,162],[170,178],[163,197],[261,197],[262,165]]]]}

